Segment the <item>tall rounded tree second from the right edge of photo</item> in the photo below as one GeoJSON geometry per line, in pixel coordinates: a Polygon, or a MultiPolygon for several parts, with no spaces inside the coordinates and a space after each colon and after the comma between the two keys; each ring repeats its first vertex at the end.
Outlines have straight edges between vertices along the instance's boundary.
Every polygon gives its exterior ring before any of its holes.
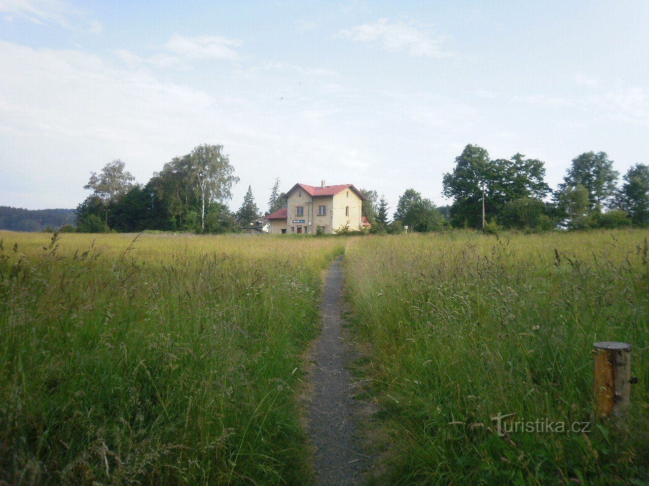
{"type": "Polygon", "coordinates": [[[617,170],[613,170],[613,161],[608,159],[606,152],[585,152],[572,159],[572,165],[567,170],[563,183],[559,184],[559,192],[581,185],[588,193],[591,211],[601,210],[615,196],[618,175],[617,170]]]}

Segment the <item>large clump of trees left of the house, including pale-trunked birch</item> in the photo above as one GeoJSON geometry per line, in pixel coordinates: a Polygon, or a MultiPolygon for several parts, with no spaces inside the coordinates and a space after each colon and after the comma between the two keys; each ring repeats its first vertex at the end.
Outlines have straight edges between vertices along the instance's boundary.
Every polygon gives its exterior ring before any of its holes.
{"type": "Polygon", "coordinates": [[[238,181],[222,145],[199,145],[174,157],[144,185],[115,160],[84,187],[93,192],[75,210],[77,231],[232,231],[235,218],[226,203],[238,181]]]}

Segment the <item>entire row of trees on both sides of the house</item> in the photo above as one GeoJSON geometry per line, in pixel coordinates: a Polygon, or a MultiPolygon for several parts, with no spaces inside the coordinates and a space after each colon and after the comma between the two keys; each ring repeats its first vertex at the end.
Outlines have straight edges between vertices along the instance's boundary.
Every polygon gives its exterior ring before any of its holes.
{"type": "MultiPolygon", "coordinates": [[[[384,196],[360,189],[367,198],[362,212],[373,233],[400,233],[404,227],[425,233],[445,227],[538,231],[649,225],[647,165],[634,165],[620,183],[605,152],[585,152],[572,159],[556,190],[545,175],[539,159],[520,153],[491,159],[485,148],[467,145],[452,172],[443,176],[443,195],[451,205],[437,207],[408,189],[390,218],[384,196]]],[[[75,210],[77,231],[237,231],[262,214],[250,186],[239,210],[228,209],[238,181],[221,145],[199,145],[186,156],[174,157],[144,185],[135,183],[116,160],[91,174],[85,188],[93,192],[75,210]]],[[[275,179],[265,214],[286,207],[285,196],[275,179]]]]}

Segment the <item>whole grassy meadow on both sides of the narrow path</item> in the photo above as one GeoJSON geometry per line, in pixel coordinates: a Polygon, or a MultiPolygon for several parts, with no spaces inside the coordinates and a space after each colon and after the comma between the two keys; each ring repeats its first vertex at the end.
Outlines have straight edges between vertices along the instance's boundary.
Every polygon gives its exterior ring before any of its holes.
{"type": "Polygon", "coordinates": [[[648,236],[0,231],[0,485],[310,483],[302,355],[343,251],[376,482],[645,484],[648,236]],[[621,431],[496,435],[590,421],[599,340],[633,345],[621,431]]]}

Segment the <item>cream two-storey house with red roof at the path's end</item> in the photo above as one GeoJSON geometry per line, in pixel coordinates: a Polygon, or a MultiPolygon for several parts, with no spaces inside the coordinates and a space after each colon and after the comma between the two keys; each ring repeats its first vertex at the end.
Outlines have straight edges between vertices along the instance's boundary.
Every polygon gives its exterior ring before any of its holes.
{"type": "Polygon", "coordinates": [[[358,231],[369,226],[361,206],[365,196],[353,184],[319,187],[295,184],[286,192],[287,207],[266,216],[271,234],[311,234],[320,229],[334,233],[342,229],[358,231]]]}

